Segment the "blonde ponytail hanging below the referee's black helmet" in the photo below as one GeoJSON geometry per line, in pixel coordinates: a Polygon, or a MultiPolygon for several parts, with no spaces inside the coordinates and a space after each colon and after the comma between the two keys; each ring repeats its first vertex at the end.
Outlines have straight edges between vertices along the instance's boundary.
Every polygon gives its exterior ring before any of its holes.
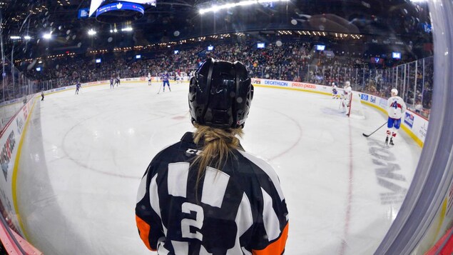
{"type": "Polygon", "coordinates": [[[200,144],[203,139],[203,151],[195,157],[192,163],[193,165],[198,164],[196,191],[206,167],[214,165],[216,169],[221,170],[231,151],[239,147],[239,139],[236,135],[242,137],[244,133],[242,128],[215,129],[198,124],[195,124],[195,128],[197,129],[193,134],[195,144],[200,144]]]}

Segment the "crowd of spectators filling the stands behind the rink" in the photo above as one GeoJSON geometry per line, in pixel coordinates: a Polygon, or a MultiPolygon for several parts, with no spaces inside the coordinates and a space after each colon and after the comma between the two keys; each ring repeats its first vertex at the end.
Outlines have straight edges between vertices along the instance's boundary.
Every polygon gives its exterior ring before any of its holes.
{"type": "Polygon", "coordinates": [[[148,53],[114,52],[101,56],[76,56],[49,59],[43,64],[36,61],[19,65],[19,73],[37,84],[38,89],[53,89],[79,82],[110,79],[112,76],[160,76],[168,71],[170,76],[190,76],[204,59],[213,57],[227,61],[242,61],[250,76],[262,79],[304,81],[330,86],[332,82],[342,87],[351,81],[353,89],[387,97],[390,89],[397,87],[409,107],[429,109],[432,94],[432,57],[387,68],[370,64],[370,58],[360,54],[327,54],[316,51],[307,41],[276,41],[258,49],[256,41],[225,41],[214,44],[208,51],[208,42],[190,44],[186,49],[159,48],[148,53]],[[96,63],[95,59],[101,59],[96,63]],[[37,71],[36,67],[41,66],[37,71]],[[420,106],[421,105],[421,106],[420,106]]]}

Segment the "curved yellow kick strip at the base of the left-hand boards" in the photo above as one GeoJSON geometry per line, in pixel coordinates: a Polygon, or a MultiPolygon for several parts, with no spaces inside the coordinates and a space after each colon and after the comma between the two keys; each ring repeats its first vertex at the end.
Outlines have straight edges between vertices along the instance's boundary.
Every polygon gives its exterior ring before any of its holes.
{"type": "Polygon", "coordinates": [[[24,222],[22,222],[21,214],[19,214],[19,208],[18,208],[18,204],[17,204],[17,194],[16,194],[16,191],[17,191],[16,181],[17,181],[17,175],[19,174],[19,159],[21,158],[21,150],[22,150],[22,145],[24,144],[24,137],[26,135],[26,131],[29,128],[29,121],[31,119],[31,114],[34,110],[34,106],[36,105],[36,101],[38,101],[38,100],[35,98],[33,106],[31,106],[29,116],[27,116],[27,119],[25,121],[24,130],[22,131],[21,139],[19,141],[19,146],[17,147],[16,159],[14,160],[13,176],[11,178],[11,195],[13,196],[14,211],[16,211],[17,221],[19,221],[19,226],[21,227],[22,233],[24,233],[26,240],[29,240],[29,236],[27,236],[27,234],[26,234],[26,231],[24,229],[24,222]]]}

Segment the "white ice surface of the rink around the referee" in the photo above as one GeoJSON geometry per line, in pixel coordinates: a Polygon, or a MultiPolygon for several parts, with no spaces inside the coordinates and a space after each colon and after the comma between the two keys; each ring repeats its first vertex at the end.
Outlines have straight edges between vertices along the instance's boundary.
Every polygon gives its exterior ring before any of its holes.
{"type": "MultiPolygon", "coordinates": [[[[29,241],[50,254],[152,254],[138,236],[136,191],[164,147],[193,131],[188,84],[125,83],[37,101],[19,161],[17,201],[29,241]]],[[[339,100],[255,87],[241,143],[277,171],[290,230],[285,254],[372,254],[399,210],[421,149],[365,108],[347,118],[339,100]]]]}

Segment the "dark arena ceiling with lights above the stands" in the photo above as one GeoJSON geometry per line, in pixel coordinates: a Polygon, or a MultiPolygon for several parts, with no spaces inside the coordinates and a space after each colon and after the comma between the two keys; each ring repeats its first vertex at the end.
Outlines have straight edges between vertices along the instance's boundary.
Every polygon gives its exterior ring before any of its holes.
{"type": "MultiPolygon", "coordinates": [[[[16,58],[28,58],[242,31],[330,31],[417,41],[417,36],[424,35],[422,26],[429,24],[427,4],[409,0],[291,0],[199,14],[200,8],[228,2],[158,0],[156,6],[146,6],[145,15],[138,21],[105,24],[94,18],[78,19],[78,10],[88,8],[88,0],[3,0],[2,36],[6,52],[14,45],[16,58]],[[133,31],[111,33],[125,26],[132,26],[133,31]],[[88,36],[88,29],[97,31],[96,36],[88,36]],[[43,39],[49,31],[52,39],[43,39]],[[11,39],[25,35],[31,39],[11,39]]],[[[429,41],[431,36],[426,37],[422,40],[429,41]]]]}

